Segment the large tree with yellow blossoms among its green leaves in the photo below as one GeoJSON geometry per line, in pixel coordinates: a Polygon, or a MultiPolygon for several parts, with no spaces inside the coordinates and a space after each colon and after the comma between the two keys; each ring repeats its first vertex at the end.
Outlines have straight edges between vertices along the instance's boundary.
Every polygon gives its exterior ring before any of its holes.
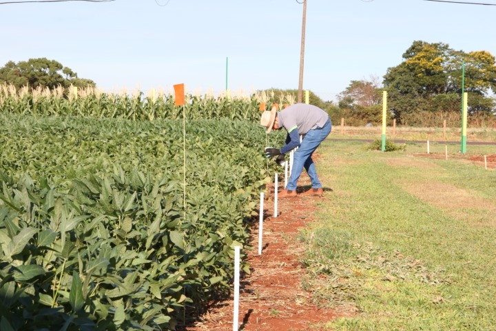
{"type": "Polygon", "coordinates": [[[403,54],[404,61],[389,68],[384,86],[389,92],[393,117],[402,119],[422,112],[458,111],[464,89],[469,93],[469,112],[494,112],[496,91],[495,57],[486,51],[463,52],[445,43],[414,41],[403,54]]]}

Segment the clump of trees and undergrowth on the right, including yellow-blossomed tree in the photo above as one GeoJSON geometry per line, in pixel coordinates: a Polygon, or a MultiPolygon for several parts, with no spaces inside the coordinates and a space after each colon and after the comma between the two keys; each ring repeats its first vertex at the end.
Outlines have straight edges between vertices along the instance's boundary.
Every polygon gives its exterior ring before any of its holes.
{"type": "Polygon", "coordinates": [[[464,90],[469,116],[496,124],[496,66],[490,52],[414,41],[402,57],[402,63],[387,70],[382,83],[377,77],[351,81],[334,112],[355,124],[378,123],[386,90],[389,118],[422,126],[429,119],[459,119],[464,90]]]}

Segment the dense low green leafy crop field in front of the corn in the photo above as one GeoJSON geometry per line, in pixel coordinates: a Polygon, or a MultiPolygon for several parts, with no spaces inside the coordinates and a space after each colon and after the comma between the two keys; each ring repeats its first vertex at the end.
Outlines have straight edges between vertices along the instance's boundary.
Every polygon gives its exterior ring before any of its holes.
{"type": "Polygon", "coordinates": [[[229,293],[267,183],[257,123],[189,119],[184,185],[174,116],[0,109],[2,331],[174,330],[229,293]]]}

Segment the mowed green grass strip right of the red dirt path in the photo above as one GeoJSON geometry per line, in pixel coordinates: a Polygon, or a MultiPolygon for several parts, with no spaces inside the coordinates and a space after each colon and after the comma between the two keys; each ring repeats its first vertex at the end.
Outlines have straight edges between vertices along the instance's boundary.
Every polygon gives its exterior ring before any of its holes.
{"type": "Polygon", "coordinates": [[[496,171],[326,142],[304,287],[329,330],[496,330],[496,171]],[[438,190],[437,192],[434,192],[438,190]],[[462,203],[463,202],[463,203],[462,203]]]}

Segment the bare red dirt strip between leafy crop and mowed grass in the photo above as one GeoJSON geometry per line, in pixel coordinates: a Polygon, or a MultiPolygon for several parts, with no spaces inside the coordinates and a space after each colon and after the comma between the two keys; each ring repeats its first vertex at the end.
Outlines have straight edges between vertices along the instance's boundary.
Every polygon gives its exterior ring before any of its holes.
{"type": "MultiPolygon", "coordinates": [[[[309,187],[309,178],[302,175],[300,184],[309,187]]],[[[303,290],[304,270],[299,255],[300,228],[313,221],[314,205],[324,197],[279,199],[278,217],[273,214],[273,188],[264,202],[264,237],[262,255],[258,255],[258,224],[252,229],[248,252],[251,274],[241,280],[239,330],[285,331],[321,330],[322,325],[339,315],[331,309],[313,304],[311,293],[303,290]]],[[[326,197],[327,196],[327,197],[326,197]]],[[[220,302],[187,331],[233,330],[233,301],[220,302]]]]}

